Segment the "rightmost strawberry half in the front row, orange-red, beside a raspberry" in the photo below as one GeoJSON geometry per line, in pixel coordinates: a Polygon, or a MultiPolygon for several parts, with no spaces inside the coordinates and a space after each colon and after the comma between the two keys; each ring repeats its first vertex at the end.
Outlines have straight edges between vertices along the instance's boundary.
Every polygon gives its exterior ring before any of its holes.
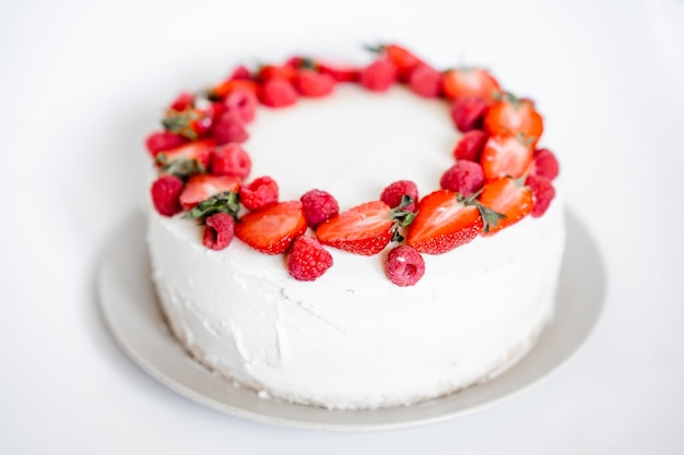
{"type": "Polygon", "coordinates": [[[491,236],[518,223],[532,212],[532,191],[520,180],[510,177],[492,180],[485,183],[477,196],[480,204],[500,215],[496,223],[485,226],[483,235],[491,236]]]}

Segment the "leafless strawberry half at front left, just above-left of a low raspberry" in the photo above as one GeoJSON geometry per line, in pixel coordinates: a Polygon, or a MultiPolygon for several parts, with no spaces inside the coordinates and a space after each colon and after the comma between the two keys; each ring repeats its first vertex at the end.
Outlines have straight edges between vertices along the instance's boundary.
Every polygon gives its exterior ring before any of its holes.
{"type": "Polygon", "coordinates": [[[306,231],[306,217],[299,201],[279,202],[245,214],[235,224],[235,237],[257,251],[280,254],[306,231]]]}

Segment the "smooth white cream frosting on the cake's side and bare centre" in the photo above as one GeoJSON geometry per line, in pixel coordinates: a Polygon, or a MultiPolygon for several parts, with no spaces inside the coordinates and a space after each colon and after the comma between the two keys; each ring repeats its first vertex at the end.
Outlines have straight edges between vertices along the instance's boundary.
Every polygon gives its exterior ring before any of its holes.
{"type": "MultiPolygon", "coordinates": [[[[249,132],[251,177],[273,177],[283,201],[327,190],[342,209],[399,179],[436,190],[458,140],[444,104],[401,87],[340,86],[326,99],[260,109],[249,132]]],[[[283,255],[237,239],[211,251],[194,223],[150,212],[153,277],[175,335],[210,368],[285,399],[355,409],[441,396],[515,363],[553,314],[559,199],[541,218],[424,255],[425,276],[405,288],[385,276],[388,250],[329,249],[334,265],[302,283],[283,255]]]]}

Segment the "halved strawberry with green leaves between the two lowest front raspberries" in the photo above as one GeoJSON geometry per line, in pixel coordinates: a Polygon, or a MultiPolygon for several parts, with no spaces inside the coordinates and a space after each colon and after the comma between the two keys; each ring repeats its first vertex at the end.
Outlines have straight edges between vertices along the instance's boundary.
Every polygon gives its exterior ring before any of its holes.
{"type": "Polygon", "coordinates": [[[366,202],[320,224],[316,236],[322,244],[351,253],[366,256],[379,253],[392,239],[401,238],[398,226],[406,226],[413,219],[413,213],[403,209],[412,202],[406,197],[394,209],[382,201],[366,202]]]}

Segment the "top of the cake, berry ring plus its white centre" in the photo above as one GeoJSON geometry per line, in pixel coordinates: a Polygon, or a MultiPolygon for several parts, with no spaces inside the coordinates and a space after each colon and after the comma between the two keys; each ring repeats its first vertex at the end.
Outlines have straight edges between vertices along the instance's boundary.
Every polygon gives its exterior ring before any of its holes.
{"type": "Polygon", "coordinates": [[[538,145],[531,99],[482,69],[438,71],[397,45],[374,52],[365,65],[237,67],[181,93],[146,141],[156,211],[190,218],[211,250],[236,237],[253,254],[285,254],[303,282],[333,266],[331,250],[387,250],[385,274],[401,287],[422,279],[424,255],[546,212],[558,166],[538,145]]]}

